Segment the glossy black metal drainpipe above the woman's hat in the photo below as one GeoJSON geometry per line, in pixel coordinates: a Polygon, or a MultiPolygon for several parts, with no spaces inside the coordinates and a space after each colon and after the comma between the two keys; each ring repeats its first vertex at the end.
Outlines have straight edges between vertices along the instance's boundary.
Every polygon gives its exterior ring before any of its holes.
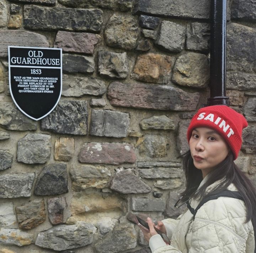
{"type": "Polygon", "coordinates": [[[229,105],[226,97],[226,0],[210,1],[210,98],[207,105],[229,105]]]}

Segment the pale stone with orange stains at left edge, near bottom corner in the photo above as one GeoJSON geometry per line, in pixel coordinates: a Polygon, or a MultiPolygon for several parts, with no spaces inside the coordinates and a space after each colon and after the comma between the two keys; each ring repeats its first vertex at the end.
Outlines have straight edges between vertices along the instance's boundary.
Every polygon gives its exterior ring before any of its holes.
{"type": "Polygon", "coordinates": [[[0,227],[0,244],[25,246],[34,242],[34,234],[19,229],[5,229],[0,227]]]}

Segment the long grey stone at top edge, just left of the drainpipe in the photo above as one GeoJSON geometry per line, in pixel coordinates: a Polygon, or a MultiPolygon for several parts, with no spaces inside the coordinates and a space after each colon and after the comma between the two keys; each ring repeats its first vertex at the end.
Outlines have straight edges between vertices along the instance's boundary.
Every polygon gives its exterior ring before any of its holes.
{"type": "Polygon", "coordinates": [[[207,0],[136,0],[134,14],[149,14],[170,18],[197,18],[210,17],[210,2],[207,0]]]}

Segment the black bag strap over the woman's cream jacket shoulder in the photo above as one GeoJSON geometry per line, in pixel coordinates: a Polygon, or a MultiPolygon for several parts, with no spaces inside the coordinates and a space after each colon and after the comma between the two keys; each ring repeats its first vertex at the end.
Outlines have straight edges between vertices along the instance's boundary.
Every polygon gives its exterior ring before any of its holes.
{"type": "Polygon", "coordinates": [[[190,212],[193,214],[193,220],[194,220],[194,218],[196,216],[196,213],[197,213],[198,209],[201,206],[203,206],[204,203],[206,203],[207,201],[212,200],[212,199],[217,199],[218,197],[230,197],[230,198],[237,198],[237,199],[244,200],[242,198],[242,195],[238,191],[223,190],[223,191],[218,192],[216,194],[209,194],[206,197],[204,197],[201,200],[201,202],[199,202],[199,204],[196,207],[196,209],[192,208],[190,203],[187,201],[187,207],[190,210],[190,212]]]}

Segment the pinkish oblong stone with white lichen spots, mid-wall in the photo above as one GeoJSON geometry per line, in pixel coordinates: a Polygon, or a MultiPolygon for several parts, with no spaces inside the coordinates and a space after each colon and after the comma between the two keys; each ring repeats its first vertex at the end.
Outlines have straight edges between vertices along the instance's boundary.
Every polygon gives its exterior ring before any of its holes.
{"type": "Polygon", "coordinates": [[[135,163],[133,145],[128,143],[86,142],[79,153],[81,163],[122,164],[135,163]]]}

